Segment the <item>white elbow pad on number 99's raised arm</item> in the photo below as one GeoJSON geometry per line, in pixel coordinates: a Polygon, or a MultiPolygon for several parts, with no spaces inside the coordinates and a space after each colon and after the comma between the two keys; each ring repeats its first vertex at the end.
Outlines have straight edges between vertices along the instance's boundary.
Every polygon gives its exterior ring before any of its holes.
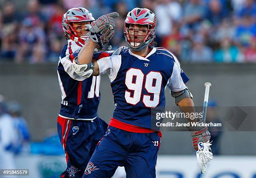
{"type": "Polygon", "coordinates": [[[89,78],[93,73],[94,63],[79,64],[77,59],[78,57],[74,58],[73,60],[74,72],[81,77],[89,78]]]}

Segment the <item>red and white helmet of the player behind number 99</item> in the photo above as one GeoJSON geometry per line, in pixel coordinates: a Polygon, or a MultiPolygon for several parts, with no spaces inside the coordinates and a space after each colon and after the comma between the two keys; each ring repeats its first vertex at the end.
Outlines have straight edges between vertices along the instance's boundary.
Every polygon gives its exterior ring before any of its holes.
{"type": "Polygon", "coordinates": [[[95,19],[92,17],[86,8],[71,8],[62,17],[62,28],[64,30],[67,39],[71,39],[75,42],[79,41],[84,43],[87,36],[79,37],[76,28],[74,28],[74,23],[76,22],[92,22],[95,19]]]}

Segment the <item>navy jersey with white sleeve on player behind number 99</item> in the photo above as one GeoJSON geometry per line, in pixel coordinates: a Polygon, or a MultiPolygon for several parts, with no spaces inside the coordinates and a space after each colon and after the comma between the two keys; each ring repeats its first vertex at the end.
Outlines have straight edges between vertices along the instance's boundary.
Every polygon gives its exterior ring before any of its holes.
{"type": "Polygon", "coordinates": [[[57,69],[62,98],[59,116],[93,120],[97,117],[100,103],[100,76],[85,79],[74,72],[72,62],[82,46],[79,42],[68,40],[61,50],[57,69]]]}

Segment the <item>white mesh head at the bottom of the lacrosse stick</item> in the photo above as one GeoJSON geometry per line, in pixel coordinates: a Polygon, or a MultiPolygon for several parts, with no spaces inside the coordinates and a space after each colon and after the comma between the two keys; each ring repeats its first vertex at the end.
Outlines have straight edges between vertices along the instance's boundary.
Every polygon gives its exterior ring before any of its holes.
{"type": "MultiPolygon", "coordinates": [[[[212,149],[210,147],[211,142],[209,140],[206,143],[198,143],[198,151],[197,151],[197,161],[201,168],[201,173],[207,172],[207,164],[212,160],[213,154],[212,149]]],[[[208,173],[210,175],[210,173],[208,173]]]]}

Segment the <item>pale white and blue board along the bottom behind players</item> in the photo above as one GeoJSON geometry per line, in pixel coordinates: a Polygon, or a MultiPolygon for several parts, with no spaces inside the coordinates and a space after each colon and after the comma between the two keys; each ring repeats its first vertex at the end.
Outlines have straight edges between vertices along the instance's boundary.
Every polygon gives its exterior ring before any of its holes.
{"type": "MultiPolygon", "coordinates": [[[[63,156],[29,155],[16,158],[16,167],[29,169],[26,178],[59,178],[65,167],[63,156]]],[[[156,165],[157,178],[256,178],[256,156],[215,156],[208,174],[200,174],[196,155],[160,155],[156,165]]],[[[115,178],[125,178],[123,168],[115,178]]]]}

